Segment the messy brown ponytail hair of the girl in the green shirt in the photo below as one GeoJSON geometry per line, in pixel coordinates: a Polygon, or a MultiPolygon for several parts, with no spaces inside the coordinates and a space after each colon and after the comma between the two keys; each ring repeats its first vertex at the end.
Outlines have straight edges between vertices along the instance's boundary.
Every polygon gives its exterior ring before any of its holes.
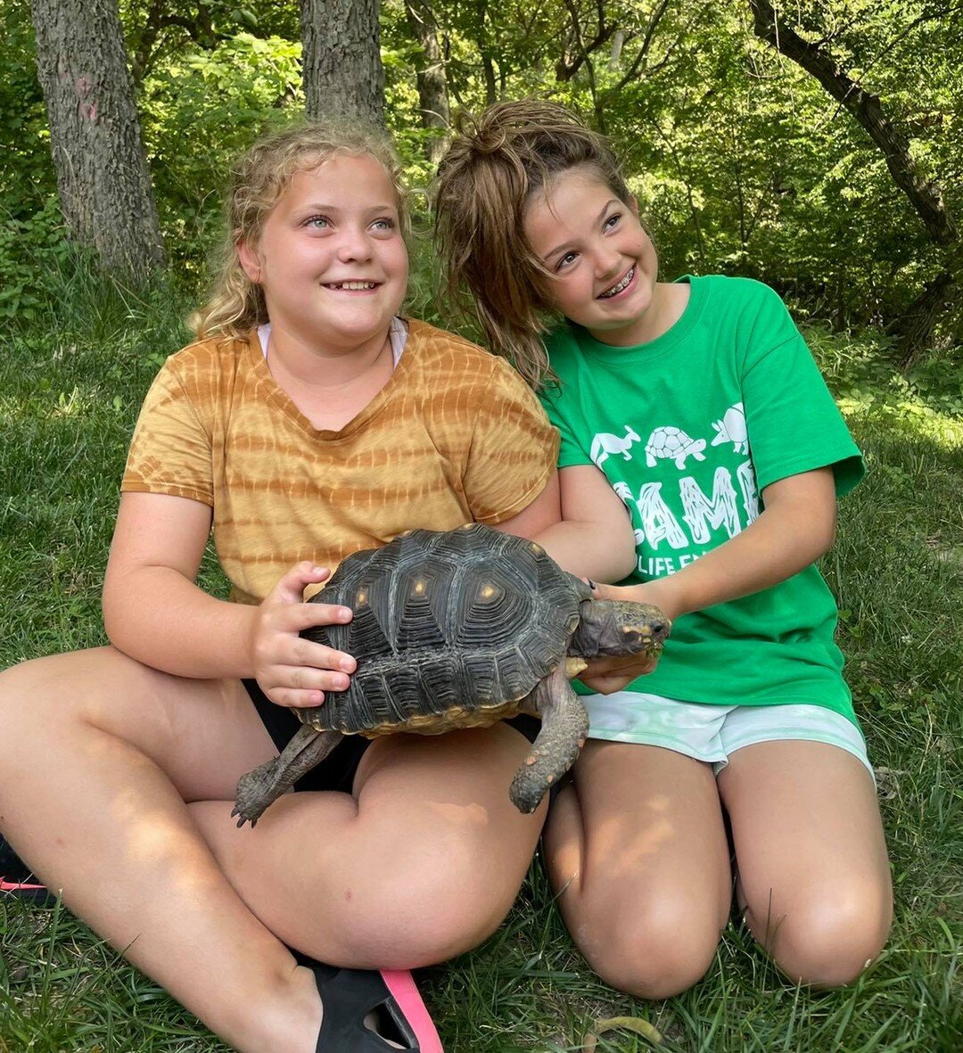
{"type": "Polygon", "coordinates": [[[543,99],[461,113],[434,184],[435,239],[451,302],[474,306],[493,351],[532,388],[553,374],[542,335],[557,318],[550,273],[525,236],[532,195],[587,168],[627,204],[631,194],[608,142],[565,106],[543,99]]]}

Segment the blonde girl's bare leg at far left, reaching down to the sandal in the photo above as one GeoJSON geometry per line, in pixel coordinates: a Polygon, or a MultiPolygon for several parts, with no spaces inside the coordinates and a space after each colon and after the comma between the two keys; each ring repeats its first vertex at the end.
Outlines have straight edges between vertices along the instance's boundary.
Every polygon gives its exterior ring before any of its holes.
{"type": "Polygon", "coordinates": [[[256,720],[224,686],[110,649],[9,670],[0,822],[72,910],[234,1047],[309,1050],[310,974],[224,880],[183,802],[230,784],[225,758],[270,756],[256,720]]]}

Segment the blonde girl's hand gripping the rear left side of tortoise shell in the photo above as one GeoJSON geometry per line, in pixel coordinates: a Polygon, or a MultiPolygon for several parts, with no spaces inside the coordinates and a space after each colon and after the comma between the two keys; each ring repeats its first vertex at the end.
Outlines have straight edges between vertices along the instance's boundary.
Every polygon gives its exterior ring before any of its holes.
{"type": "Polygon", "coordinates": [[[302,629],[351,621],[348,607],[306,603],[304,589],[325,581],[330,571],[310,562],[297,563],[278,581],[258,608],[251,635],[254,676],[278,706],[320,706],[328,691],[345,691],[356,662],[300,636],[302,629]]]}

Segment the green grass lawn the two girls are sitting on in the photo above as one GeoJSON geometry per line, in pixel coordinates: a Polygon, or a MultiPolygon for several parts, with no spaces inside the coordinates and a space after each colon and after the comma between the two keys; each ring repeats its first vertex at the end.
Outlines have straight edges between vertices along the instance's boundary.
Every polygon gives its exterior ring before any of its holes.
{"type": "MultiPolygon", "coordinates": [[[[137,409],[176,349],[176,295],[104,289],[65,272],[41,319],[0,358],[0,665],[102,642],[99,587],[137,409]]],[[[536,860],[483,947],[421,976],[449,1053],[562,1053],[600,1018],[640,1016],[661,1049],[963,1050],[963,419],[960,371],[912,383],[880,347],[813,333],[870,474],[841,506],[825,560],[848,675],[881,769],[897,896],[883,956],[852,988],[783,980],[734,921],[707,977],[643,1004],[573,950],[536,860]],[[955,416],[957,414],[957,416],[955,416]]],[[[205,580],[219,588],[209,564],[205,580]]],[[[110,875],[105,875],[105,880],[110,875]]],[[[0,900],[0,1051],[223,1047],[65,910],[0,900]]],[[[648,1050],[629,1031],[598,1053],[648,1050]]]]}

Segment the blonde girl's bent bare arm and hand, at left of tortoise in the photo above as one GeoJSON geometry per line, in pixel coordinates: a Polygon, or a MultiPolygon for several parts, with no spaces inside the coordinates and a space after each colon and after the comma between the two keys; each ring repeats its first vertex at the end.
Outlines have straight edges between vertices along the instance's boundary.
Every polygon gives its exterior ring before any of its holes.
{"type": "Polygon", "coordinates": [[[328,571],[298,563],[259,607],[209,596],[195,584],[211,509],[164,494],[123,494],[103,587],[107,636],[155,669],[197,678],[256,676],[273,701],[317,706],[354,669],[340,652],[298,636],[348,621],[347,608],[304,603],[304,587],[328,571]],[[342,665],[341,662],[347,662],[342,665]]]}

